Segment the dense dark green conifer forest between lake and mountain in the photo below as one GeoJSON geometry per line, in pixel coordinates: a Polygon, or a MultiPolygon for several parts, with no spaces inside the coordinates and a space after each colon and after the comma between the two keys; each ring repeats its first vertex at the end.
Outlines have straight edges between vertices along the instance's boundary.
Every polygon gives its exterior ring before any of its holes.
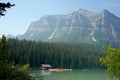
{"type": "Polygon", "coordinates": [[[50,43],[8,39],[11,64],[51,64],[62,68],[100,68],[103,57],[100,46],[85,43],[50,43]]]}

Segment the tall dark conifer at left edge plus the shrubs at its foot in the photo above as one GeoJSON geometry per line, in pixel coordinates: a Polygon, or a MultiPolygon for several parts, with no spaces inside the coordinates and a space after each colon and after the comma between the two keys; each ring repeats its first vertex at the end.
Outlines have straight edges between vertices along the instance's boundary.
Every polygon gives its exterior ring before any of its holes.
{"type": "Polygon", "coordinates": [[[8,62],[9,48],[6,37],[0,39],[0,80],[28,80],[29,65],[13,67],[8,62]]]}

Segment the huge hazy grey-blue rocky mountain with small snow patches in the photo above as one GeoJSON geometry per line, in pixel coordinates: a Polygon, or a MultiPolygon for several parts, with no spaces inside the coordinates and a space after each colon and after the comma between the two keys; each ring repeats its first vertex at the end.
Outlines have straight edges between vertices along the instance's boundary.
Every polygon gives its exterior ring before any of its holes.
{"type": "Polygon", "coordinates": [[[19,39],[50,42],[120,42],[120,18],[103,10],[94,13],[78,9],[58,15],[45,15],[32,22],[19,39]]]}

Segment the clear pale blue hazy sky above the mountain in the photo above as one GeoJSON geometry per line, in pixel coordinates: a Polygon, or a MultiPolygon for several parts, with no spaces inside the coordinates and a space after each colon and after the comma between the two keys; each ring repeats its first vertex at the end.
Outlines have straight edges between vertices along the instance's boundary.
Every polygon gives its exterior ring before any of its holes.
{"type": "Polygon", "coordinates": [[[6,16],[0,17],[2,34],[24,34],[30,23],[44,15],[62,14],[79,8],[100,13],[107,9],[120,17],[120,0],[0,0],[14,3],[7,9],[6,16]]]}

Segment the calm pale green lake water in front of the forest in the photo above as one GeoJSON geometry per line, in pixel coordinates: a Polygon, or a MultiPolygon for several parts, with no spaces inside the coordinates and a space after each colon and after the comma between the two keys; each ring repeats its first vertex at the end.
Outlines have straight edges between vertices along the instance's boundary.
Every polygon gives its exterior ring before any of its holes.
{"type": "Polygon", "coordinates": [[[75,69],[64,72],[40,72],[39,70],[32,70],[31,73],[37,77],[37,80],[110,80],[106,70],[103,69],[75,69]]]}

